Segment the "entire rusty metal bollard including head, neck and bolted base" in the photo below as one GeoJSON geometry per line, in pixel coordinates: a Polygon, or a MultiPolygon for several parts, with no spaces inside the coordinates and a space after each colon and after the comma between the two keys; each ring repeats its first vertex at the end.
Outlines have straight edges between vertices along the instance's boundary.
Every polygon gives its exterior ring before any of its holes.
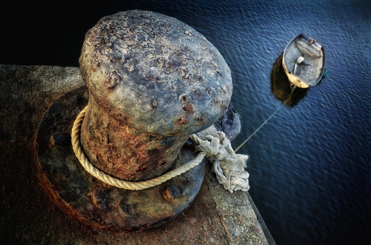
{"type": "Polygon", "coordinates": [[[129,191],[94,178],[68,145],[52,144],[50,137],[68,135],[87,105],[80,141],[92,164],[127,181],[158,177],[194,158],[192,142],[185,144],[189,136],[227,109],[232,78],[226,62],[187,24],[131,10],[103,17],[86,33],[79,64],[88,91],[63,95],[40,122],[40,179],[63,209],[92,226],[132,231],[161,225],[197,195],[203,165],[129,191]]]}

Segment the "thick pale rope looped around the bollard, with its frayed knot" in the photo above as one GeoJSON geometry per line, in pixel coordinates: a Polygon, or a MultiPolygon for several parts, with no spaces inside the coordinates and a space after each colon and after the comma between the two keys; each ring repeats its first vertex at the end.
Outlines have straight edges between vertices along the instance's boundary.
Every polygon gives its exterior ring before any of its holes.
{"type": "Polygon", "coordinates": [[[244,171],[248,156],[234,153],[228,138],[226,138],[223,132],[217,131],[214,125],[199,132],[200,135],[213,132],[213,135],[207,134],[203,136],[203,140],[198,138],[196,134],[191,135],[190,138],[196,143],[196,151],[200,151],[200,153],[198,153],[194,160],[183,164],[175,170],[171,170],[157,178],[141,182],[125,181],[112,177],[96,168],[85,156],[81,148],[80,130],[82,121],[85,117],[86,108],[87,107],[80,112],[73,123],[71,132],[72,148],[85,170],[109,185],[129,190],[151,188],[196,167],[206,156],[209,161],[213,163],[212,170],[216,173],[217,180],[219,183],[223,184],[225,189],[228,189],[231,193],[239,189],[242,191],[247,191],[249,189],[249,173],[244,171]]]}

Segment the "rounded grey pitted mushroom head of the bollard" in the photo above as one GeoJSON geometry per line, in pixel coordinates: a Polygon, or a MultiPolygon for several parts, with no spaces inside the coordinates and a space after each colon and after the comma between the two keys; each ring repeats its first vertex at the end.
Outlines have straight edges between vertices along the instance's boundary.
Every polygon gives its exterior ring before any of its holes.
{"type": "Polygon", "coordinates": [[[230,69],[213,44],[187,24],[151,11],[103,17],[86,33],[79,65],[99,105],[152,134],[204,130],[232,96],[230,69]]]}

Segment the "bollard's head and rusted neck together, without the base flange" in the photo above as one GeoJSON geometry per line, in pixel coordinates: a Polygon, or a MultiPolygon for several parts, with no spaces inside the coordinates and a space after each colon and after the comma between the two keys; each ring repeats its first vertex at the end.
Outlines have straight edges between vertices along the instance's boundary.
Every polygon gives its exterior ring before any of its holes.
{"type": "Polygon", "coordinates": [[[150,11],[103,17],[86,33],[79,64],[91,97],[82,148],[96,167],[129,181],[167,171],[232,95],[219,51],[187,24],[150,11]]]}

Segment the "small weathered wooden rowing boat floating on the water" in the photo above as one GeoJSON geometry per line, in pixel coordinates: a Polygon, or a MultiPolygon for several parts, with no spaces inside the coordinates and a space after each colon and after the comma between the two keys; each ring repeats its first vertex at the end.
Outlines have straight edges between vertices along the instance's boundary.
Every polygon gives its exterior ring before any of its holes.
{"type": "Polygon", "coordinates": [[[312,87],[321,81],[325,71],[324,47],[299,34],[283,51],[282,66],[290,83],[299,88],[312,87]]]}

